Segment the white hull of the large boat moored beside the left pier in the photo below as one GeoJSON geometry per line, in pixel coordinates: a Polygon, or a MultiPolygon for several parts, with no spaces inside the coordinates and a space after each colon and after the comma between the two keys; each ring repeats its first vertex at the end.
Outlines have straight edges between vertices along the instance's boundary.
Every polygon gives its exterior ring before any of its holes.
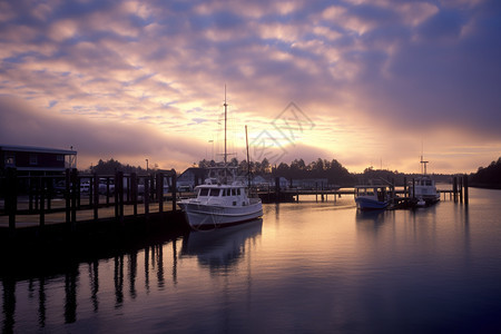
{"type": "Polygon", "coordinates": [[[213,229],[247,223],[263,216],[259,203],[247,206],[215,206],[197,203],[179,203],[186,220],[193,229],[213,229]]]}

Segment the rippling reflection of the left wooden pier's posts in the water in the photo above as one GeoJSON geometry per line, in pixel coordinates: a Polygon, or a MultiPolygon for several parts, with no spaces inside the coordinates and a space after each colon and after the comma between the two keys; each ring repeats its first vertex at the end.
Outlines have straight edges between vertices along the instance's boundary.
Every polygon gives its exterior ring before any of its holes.
{"type": "Polygon", "coordinates": [[[49,262],[42,256],[11,259],[0,272],[1,332],[23,332],[27,318],[30,331],[50,331],[48,324],[73,324],[88,316],[86,312],[122,308],[139,294],[164,288],[169,265],[171,282],[177,284],[178,237],[111,250],[111,255],[108,248],[105,256],[85,261],[69,250],[49,262]],[[171,257],[166,258],[167,254],[171,257]]]}

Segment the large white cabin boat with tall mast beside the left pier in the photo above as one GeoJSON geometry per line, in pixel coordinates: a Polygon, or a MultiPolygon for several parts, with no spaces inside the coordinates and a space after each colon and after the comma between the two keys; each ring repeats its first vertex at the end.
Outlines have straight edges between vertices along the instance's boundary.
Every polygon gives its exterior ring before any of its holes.
{"type": "MultiPolygon", "coordinates": [[[[193,229],[213,229],[254,220],[263,216],[259,198],[248,196],[246,185],[237,179],[235,168],[227,165],[226,153],[226,92],[225,92],[225,154],[224,164],[212,168],[205,184],[195,187],[196,198],[179,202],[193,229]]],[[[248,161],[248,157],[247,157],[248,161]]]]}

